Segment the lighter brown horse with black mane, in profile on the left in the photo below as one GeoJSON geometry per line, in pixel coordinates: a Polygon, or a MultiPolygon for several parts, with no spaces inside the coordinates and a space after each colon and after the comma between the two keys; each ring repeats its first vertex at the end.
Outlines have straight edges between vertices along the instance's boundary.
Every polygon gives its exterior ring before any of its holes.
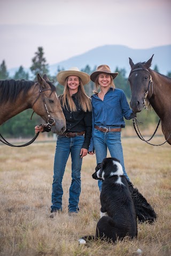
{"type": "Polygon", "coordinates": [[[37,82],[26,80],[0,81],[0,125],[14,115],[33,108],[36,114],[52,126],[52,132],[63,134],[66,121],[56,88],[46,75],[37,74],[37,82]]]}

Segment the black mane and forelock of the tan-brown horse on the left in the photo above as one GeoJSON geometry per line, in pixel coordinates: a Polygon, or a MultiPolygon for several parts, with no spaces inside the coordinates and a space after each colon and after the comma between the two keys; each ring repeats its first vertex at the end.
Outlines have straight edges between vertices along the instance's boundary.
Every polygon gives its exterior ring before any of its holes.
{"type": "MultiPolygon", "coordinates": [[[[49,81],[46,81],[53,91],[56,91],[56,87],[49,81]]],[[[0,81],[0,102],[1,104],[11,100],[11,102],[15,102],[20,92],[23,94],[27,94],[30,88],[34,85],[38,84],[38,82],[28,81],[28,80],[1,80],[0,81]]]]}

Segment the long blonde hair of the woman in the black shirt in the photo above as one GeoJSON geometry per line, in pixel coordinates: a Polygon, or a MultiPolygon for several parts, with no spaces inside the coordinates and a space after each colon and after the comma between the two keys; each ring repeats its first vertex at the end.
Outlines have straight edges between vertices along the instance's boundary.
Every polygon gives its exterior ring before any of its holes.
{"type": "MultiPolygon", "coordinates": [[[[68,85],[67,85],[67,81],[68,81],[68,77],[66,78],[66,81],[65,81],[64,94],[60,95],[61,102],[62,102],[62,107],[63,108],[66,107],[66,109],[68,111],[75,112],[76,111],[76,106],[75,106],[75,103],[74,103],[71,95],[69,94],[69,88],[68,88],[68,85]]],[[[83,84],[82,84],[82,81],[81,81],[80,77],[79,77],[79,81],[80,81],[80,86],[78,87],[79,105],[81,106],[81,108],[84,112],[91,111],[92,110],[91,100],[87,96],[86,92],[84,91],[83,84]]]]}

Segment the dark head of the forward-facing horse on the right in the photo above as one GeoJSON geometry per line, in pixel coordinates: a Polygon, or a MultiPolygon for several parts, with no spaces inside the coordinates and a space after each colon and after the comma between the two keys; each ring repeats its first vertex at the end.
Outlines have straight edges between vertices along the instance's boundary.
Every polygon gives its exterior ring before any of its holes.
{"type": "Polygon", "coordinates": [[[131,67],[128,77],[131,88],[130,107],[134,113],[142,111],[144,99],[146,98],[149,89],[151,89],[151,75],[149,68],[151,66],[152,58],[153,56],[148,61],[137,64],[134,64],[133,60],[129,58],[129,64],[131,67]]]}

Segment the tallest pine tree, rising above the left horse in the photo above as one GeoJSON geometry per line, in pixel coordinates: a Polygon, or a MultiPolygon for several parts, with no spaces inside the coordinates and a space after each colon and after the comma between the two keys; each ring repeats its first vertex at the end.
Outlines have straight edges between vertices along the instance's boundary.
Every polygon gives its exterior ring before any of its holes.
{"type": "Polygon", "coordinates": [[[37,73],[43,76],[43,74],[49,75],[49,67],[46,64],[46,59],[44,58],[43,47],[38,47],[37,52],[35,52],[35,57],[32,59],[33,65],[30,67],[34,80],[37,80],[37,73]]]}

